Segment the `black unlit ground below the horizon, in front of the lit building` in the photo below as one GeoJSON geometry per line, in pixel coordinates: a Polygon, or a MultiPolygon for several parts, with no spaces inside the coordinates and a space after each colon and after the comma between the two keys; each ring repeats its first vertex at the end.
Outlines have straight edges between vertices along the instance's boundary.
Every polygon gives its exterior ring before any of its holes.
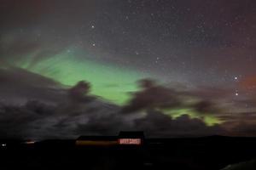
{"type": "Polygon", "coordinates": [[[36,144],[1,140],[0,145],[0,169],[217,170],[254,158],[255,138],[218,136],[148,139],[143,146],[133,147],[84,147],[76,146],[75,140],[48,140],[36,144]]]}

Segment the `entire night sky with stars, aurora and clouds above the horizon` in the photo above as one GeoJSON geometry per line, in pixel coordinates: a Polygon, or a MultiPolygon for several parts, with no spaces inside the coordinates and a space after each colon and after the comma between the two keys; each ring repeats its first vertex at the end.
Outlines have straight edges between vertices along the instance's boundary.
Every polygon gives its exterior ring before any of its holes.
{"type": "Polygon", "coordinates": [[[3,0],[0,20],[1,137],[256,135],[253,0],[3,0]]]}

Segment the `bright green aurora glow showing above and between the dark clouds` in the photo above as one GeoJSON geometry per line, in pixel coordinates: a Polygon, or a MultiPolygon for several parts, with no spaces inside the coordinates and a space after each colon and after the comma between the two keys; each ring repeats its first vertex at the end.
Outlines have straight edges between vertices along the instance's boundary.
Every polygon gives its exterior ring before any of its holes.
{"type": "MultiPolygon", "coordinates": [[[[47,59],[41,59],[32,65],[33,54],[20,60],[15,60],[15,66],[32,71],[44,77],[54,79],[66,86],[73,86],[79,81],[90,82],[91,94],[113,102],[116,105],[125,105],[131,99],[131,92],[139,90],[137,81],[149,77],[140,71],[131,68],[119,67],[102,63],[92,59],[84,59],[74,54],[63,52],[47,59]]],[[[221,121],[216,116],[200,113],[191,108],[176,108],[160,110],[166,115],[177,118],[189,115],[191,118],[200,118],[207,126],[212,126],[221,121]]]]}

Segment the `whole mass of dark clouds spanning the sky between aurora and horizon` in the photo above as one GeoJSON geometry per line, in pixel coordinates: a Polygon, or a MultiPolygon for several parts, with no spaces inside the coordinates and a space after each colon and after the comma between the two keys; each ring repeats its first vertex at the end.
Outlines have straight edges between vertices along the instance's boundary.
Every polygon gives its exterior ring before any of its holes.
{"type": "MultiPolygon", "coordinates": [[[[199,113],[217,114],[216,105],[201,99],[194,105],[187,105],[183,96],[189,93],[166,88],[149,79],[138,82],[140,91],[133,94],[128,105],[123,107],[109,104],[90,95],[90,83],[78,82],[71,88],[63,87],[49,78],[38,76],[16,68],[0,71],[1,99],[10,96],[15,100],[24,98],[23,103],[1,102],[0,137],[22,139],[67,139],[79,135],[115,135],[120,130],[143,130],[150,137],[195,137],[214,134],[252,135],[252,126],[239,128],[226,124],[207,126],[202,119],[188,115],[173,118],[157,109],[190,107],[199,113]],[[140,114],[143,111],[145,115],[140,114]],[[122,114],[137,112],[137,114],[122,114]],[[228,131],[227,129],[232,129],[228,131]],[[244,130],[242,130],[244,129],[244,130]]],[[[191,97],[195,97],[191,95],[191,97]]],[[[248,116],[247,116],[248,117],[248,116]]]]}

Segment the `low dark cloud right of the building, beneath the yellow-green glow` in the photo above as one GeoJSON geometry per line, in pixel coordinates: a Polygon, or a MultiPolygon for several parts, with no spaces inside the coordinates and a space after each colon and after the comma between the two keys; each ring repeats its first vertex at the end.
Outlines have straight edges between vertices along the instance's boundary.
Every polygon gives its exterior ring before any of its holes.
{"type": "Polygon", "coordinates": [[[159,111],[148,111],[147,116],[137,119],[135,127],[155,137],[192,137],[224,133],[218,125],[208,127],[201,119],[183,115],[173,119],[159,111]]]}

